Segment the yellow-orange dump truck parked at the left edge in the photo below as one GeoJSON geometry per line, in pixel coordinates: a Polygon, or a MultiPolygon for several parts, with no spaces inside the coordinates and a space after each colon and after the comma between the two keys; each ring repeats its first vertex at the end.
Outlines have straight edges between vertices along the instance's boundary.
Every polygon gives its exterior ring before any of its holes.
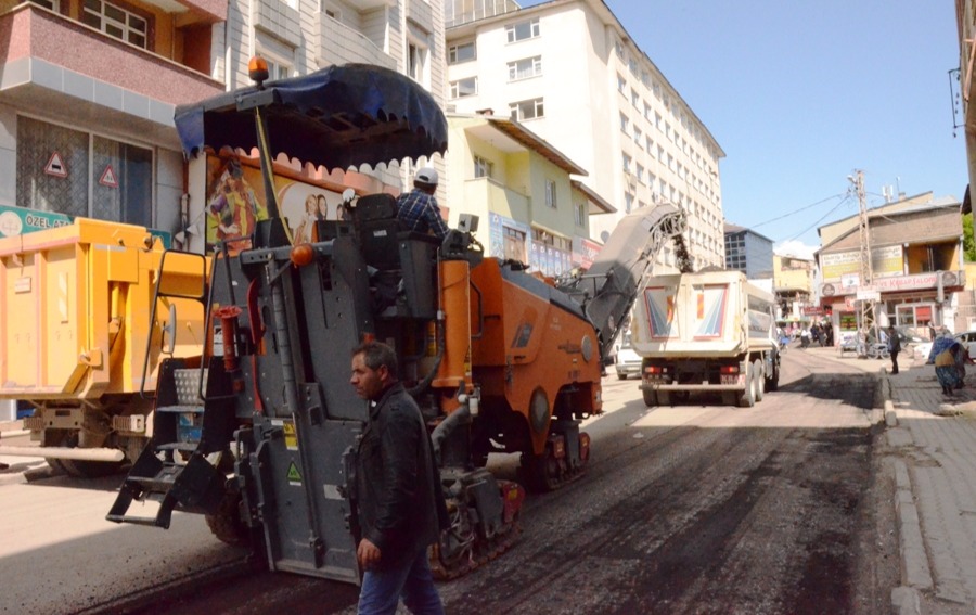
{"type": "Polygon", "coordinates": [[[205,342],[207,271],[201,255],[104,220],[0,239],[0,399],[33,406],[24,426],[40,445],[0,453],[43,457],[74,476],[134,461],[153,435],[145,393],[159,360],[205,342]]]}

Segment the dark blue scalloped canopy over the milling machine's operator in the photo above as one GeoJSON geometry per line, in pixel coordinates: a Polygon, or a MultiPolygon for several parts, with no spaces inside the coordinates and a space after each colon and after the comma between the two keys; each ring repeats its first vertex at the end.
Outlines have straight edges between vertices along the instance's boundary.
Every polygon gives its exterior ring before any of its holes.
{"type": "Polygon", "coordinates": [[[416,159],[447,150],[447,120],[434,98],[395,71],[368,64],[330,66],[179,105],[175,121],[183,152],[208,145],[257,146],[255,100],[261,105],[270,153],[326,169],[416,159]],[[239,108],[239,105],[241,108],[239,108]]]}

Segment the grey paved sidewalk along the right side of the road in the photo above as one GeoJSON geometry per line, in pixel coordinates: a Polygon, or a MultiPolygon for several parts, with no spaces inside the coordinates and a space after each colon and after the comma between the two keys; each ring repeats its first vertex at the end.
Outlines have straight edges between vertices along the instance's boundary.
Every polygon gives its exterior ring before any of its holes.
{"type": "MultiPolygon", "coordinates": [[[[810,350],[842,360],[836,348],[810,350]]],[[[890,360],[843,361],[881,379],[901,554],[892,612],[976,612],[976,366],[947,397],[925,357],[903,353],[898,374],[890,360]]]]}

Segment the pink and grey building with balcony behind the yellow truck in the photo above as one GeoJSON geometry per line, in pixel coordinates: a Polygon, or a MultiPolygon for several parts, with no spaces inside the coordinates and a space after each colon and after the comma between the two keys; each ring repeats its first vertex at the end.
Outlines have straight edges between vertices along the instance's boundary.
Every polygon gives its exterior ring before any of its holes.
{"type": "Polygon", "coordinates": [[[216,0],[0,2],[2,234],[90,216],[179,223],[177,103],[217,94],[216,0]]]}

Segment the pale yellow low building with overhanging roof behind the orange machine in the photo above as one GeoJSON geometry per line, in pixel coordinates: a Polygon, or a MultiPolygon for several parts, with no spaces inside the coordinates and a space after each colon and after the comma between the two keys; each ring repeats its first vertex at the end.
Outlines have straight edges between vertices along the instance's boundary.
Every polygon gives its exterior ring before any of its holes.
{"type": "Polygon", "coordinates": [[[448,201],[480,218],[486,256],[547,276],[591,265],[599,244],[589,240],[590,215],[613,207],[570,178],[586,175],[582,168],[506,117],[448,114],[448,201]]]}

